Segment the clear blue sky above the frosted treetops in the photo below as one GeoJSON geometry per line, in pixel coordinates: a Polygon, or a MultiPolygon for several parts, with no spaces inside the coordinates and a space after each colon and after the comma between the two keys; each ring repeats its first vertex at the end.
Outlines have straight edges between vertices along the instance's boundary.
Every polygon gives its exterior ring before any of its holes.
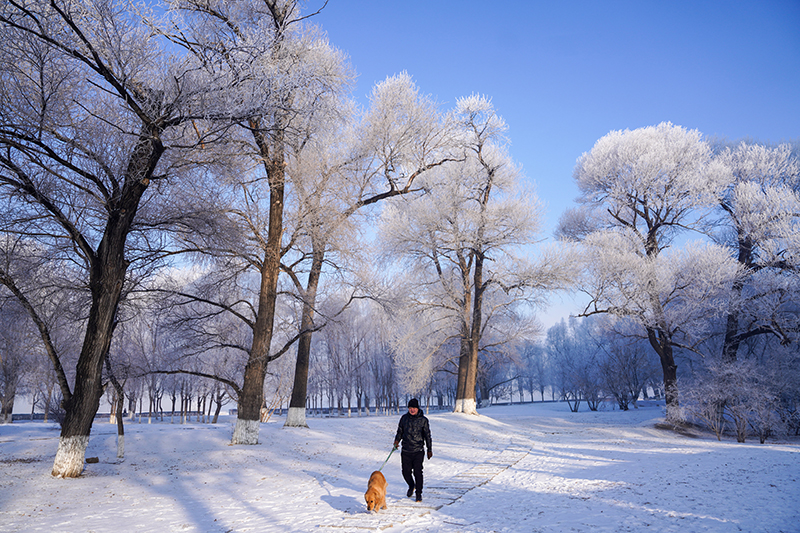
{"type": "Polygon", "coordinates": [[[358,97],[401,71],[447,108],[491,97],[545,236],[577,195],[576,159],[611,130],[800,139],[800,0],[330,0],[314,22],[358,97]]]}

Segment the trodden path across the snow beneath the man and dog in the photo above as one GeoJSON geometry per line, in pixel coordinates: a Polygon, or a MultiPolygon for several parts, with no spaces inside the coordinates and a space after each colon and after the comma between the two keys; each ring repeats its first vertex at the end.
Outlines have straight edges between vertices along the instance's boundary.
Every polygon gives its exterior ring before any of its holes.
{"type": "MultiPolygon", "coordinates": [[[[418,518],[450,505],[476,487],[490,482],[496,475],[509,469],[530,453],[530,447],[511,444],[497,456],[477,464],[450,479],[434,481],[425,487],[421,503],[410,498],[389,499],[388,509],[374,513],[346,515],[338,520],[320,524],[320,528],[332,531],[376,531],[402,525],[412,518],[418,518]]],[[[468,525],[468,524],[454,524],[468,525]]]]}

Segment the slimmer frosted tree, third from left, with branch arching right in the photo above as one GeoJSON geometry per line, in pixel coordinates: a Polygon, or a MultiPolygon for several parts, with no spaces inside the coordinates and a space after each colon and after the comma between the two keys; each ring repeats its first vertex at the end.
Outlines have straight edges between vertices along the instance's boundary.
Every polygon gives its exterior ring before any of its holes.
{"type": "Polygon", "coordinates": [[[284,271],[303,304],[286,418],[290,427],[306,425],[309,352],[312,335],[320,327],[314,319],[323,266],[335,264],[341,275],[345,258],[368,261],[363,245],[360,254],[354,253],[359,242],[355,215],[389,198],[419,192],[416,184],[421,177],[453,159],[450,124],[406,73],[376,84],[365,113],[357,115],[350,107],[341,111],[341,116],[328,121],[323,134],[296,147],[297,165],[288,170],[298,204],[297,231],[291,242],[298,246],[300,258],[285,260],[284,271]],[[331,261],[332,257],[338,259],[331,261]],[[305,285],[299,272],[304,267],[305,285]]]}

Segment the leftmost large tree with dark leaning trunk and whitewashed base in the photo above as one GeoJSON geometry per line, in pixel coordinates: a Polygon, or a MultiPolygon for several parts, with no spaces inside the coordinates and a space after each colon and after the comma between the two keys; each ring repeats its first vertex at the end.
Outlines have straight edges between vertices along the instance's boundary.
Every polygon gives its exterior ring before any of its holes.
{"type": "Polygon", "coordinates": [[[143,217],[156,212],[145,207],[154,189],[167,186],[165,150],[203,87],[126,5],[12,0],[0,7],[1,231],[72,263],[89,295],[72,383],[61,354],[48,348],[66,410],[56,476],[83,469],[130,267],[152,260],[158,242],[145,235],[152,221],[143,217]]]}

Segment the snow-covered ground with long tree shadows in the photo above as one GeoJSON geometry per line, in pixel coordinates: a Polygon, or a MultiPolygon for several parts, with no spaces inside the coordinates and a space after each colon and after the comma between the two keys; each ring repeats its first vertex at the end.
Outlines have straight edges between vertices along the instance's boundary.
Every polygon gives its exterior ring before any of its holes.
{"type": "Polygon", "coordinates": [[[58,429],[0,426],[0,531],[798,532],[800,441],[718,442],[659,429],[662,407],[571,413],[565,404],[429,415],[423,502],[400,457],[383,468],[387,511],[363,493],[399,415],[273,417],[255,446],[217,425],[95,423],[78,479],[50,475],[58,429]]]}

